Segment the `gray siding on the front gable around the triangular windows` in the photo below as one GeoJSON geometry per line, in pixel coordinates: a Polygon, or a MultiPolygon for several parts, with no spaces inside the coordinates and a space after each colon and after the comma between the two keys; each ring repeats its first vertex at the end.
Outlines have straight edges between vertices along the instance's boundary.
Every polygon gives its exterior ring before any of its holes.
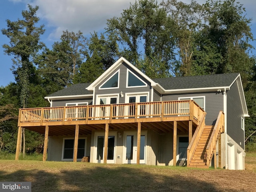
{"type": "Polygon", "coordinates": [[[124,94],[124,97],[119,97],[119,103],[125,103],[125,94],[126,93],[136,93],[136,92],[149,92],[149,98],[148,101],[151,101],[151,86],[150,83],[146,81],[142,76],[140,76],[138,73],[136,73],[130,66],[128,66],[126,63],[120,64],[112,73],[110,73],[104,80],[102,80],[96,87],[95,87],[95,99],[94,104],[96,104],[96,95],[101,94],[119,94],[121,91],[124,94]],[[144,82],[146,82],[146,87],[136,87],[136,88],[126,88],[126,74],[127,74],[127,68],[132,71],[134,74],[136,74],[140,79],[142,79],[144,82]],[[119,88],[113,88],[113,89],[99,89],[99,87],[114,73],[116,73],[117,70],[120,69],[120,75],[119,75],[119,88]]]}

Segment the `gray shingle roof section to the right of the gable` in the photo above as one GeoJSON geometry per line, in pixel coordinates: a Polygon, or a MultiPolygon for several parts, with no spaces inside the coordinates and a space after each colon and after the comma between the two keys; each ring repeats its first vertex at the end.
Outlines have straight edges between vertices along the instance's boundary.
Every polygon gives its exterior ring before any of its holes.
{"type": "Polygon", "coordinates": [[[227,87],[232,84],[238,74],[239,73],[170,77],[152,80],[160,84],[165,90],[227,87]]]}

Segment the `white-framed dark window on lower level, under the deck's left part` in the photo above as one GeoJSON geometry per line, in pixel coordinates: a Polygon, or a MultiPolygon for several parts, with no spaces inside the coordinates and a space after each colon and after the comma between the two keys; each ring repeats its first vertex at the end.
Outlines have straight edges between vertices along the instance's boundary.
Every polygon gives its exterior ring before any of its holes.
{"type": "MultiPolygon", "coordinates": [[[[62,143],[62,161],[71,161],[74,159],[74,138],[63,138],[62,143]]],[[[78,138],[77,160],[86,156],[86,137],[78,138]]]]}

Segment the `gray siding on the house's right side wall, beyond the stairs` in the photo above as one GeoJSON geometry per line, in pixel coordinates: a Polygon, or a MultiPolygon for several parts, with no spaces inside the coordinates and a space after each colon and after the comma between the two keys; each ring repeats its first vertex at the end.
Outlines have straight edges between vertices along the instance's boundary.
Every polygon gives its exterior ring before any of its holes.
{"type": "Polygon", "coordinates": [[[244,148],[244,130],[241,118],[243,116],[242,103],[239,96],[237,82],[227,91],[227,134],[242,148],[244,148]],[[241,142],[241,145],[240,145],[241,142]]]}

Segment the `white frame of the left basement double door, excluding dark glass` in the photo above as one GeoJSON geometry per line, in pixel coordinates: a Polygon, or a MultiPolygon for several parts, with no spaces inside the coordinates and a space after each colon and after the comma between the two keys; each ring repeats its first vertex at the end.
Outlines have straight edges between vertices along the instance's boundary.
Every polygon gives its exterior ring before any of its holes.
{"type": "MultiPolygon", "coordinates": [[[[104,161],[104,144],[103,144],[103,157],[102,160],[97,160],[97,138],[98,136],[104,136],[104,140],[105,140],[105,132],[95,132],[94,134],[94,155],[93,155],[93,159],[92,162],[93,163],[103,163],[104,161]]],[[[115,164],[116,163],[116,140],[117,140],[117,131],[111,131],[108,132],[108,136],[114,136],[115,140],[114,140],[114,159],[113,160],[107,160],[107,163],[109,164],[115,164]]]]}

